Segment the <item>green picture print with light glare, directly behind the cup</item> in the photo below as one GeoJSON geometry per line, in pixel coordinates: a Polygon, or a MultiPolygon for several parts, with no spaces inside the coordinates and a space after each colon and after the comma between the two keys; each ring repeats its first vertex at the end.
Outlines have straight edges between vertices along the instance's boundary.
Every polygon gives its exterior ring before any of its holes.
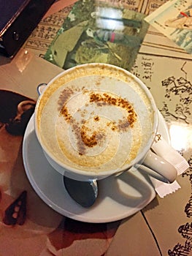
{"type": "Polygon", "coordinates": [[[77,1],[45,59],[64,69],[100,62],[130,70],[147,33],[144,18],[105,1],[77,1]]]}

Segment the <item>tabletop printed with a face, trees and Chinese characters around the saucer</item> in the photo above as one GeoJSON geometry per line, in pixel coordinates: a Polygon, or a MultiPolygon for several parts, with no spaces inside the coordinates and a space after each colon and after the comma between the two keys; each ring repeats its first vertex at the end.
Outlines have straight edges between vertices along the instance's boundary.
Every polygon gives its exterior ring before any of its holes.
{"type": "MultiPolygon", "coordinates": [[[[26,177],[23,132],[13,126],[18,131],[15,134],[7,123],[17,115],[19,102],[29,102],[33,111],[37,86],[63,71],[41,57],[74,2],[56,1],[13,59],[0,56],[0,255],[192,255],[192,56],[152,26],[131,72],[150,89],[166,121],[172,147],[190,165],[177,177],[180,189],[164,198],[156,195],[145,208],[124,219],[87,223],[47,206],[26,177]],[[44,31],[52,28],[51,37],[47,33],[38,37],[43,27],[44,31]]],[[[148,15],[165,1],[123,2],[148,15]]]]}

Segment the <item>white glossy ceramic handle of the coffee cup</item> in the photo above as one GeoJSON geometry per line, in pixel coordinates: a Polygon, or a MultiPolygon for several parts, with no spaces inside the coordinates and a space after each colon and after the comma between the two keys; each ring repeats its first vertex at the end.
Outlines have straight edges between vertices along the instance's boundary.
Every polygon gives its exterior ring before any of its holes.
{"type": "Polygon", "coordinates": [[[175,167],[162,157],[154,154],[151,150],[148,151],[142,165],[137,164],[135,167],[169,184],[174,182],[177,178],[177,170],[175,167]]]}

